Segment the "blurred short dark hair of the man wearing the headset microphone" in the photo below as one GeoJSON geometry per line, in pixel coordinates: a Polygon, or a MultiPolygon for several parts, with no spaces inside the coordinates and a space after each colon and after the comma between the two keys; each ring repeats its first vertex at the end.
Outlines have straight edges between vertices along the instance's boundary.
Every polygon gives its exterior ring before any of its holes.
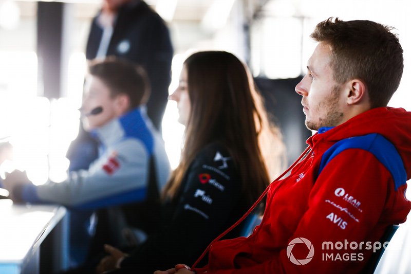
{"type": "Polygon", "coordinates": [[[111,97],[127,95],[130,98],[131,109],[145,104],[150,96],[146,71],[135,63],[117,57],[92,60],[88,66],[88,73],[107,85],[111,97]]]}

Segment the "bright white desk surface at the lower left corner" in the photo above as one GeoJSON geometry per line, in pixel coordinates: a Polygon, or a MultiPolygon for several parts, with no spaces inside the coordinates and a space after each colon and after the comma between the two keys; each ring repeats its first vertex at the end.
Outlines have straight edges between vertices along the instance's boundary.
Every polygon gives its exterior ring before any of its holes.
{"type": "Polygon", "coordinates": [[[0,199],[0,264],[23,264],[65,214],[61,206],[13,205],[0,199]]]}

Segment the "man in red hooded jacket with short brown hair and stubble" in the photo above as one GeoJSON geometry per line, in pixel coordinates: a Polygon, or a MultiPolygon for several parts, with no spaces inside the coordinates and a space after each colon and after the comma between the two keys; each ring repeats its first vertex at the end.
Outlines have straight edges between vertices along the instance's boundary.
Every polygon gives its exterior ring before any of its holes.
{"type": "MultiPolygon", "coordinates": [[[[384,231],[411,209],[411,113],[386,107],[403,72],[390,30],[338,18],[316,26],[311,38],[319,43],[295,87],[306,126],[317,131],[309,151],[270,185],[253,234],[214,242],[208,265],[194,271],[356,273],[384,248],[384,231]]],[[[176,271],[192,272],[178,265],[156,273],[176,271]]]]}

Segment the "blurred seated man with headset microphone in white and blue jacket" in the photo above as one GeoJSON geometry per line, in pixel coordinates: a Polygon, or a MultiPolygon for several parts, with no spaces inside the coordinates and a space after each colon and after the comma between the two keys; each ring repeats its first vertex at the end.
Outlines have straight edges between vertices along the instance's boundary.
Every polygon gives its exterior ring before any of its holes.
{"type": "MultiPolygon", "coordinates": [[[[160,134],[141,110],[149,94],[143,68],[115,58],[92,62],[82,109],[86,129],[100,140],[99,158],[89,169],[72,171],[60,183],[35,186],[25,173],[15,171],[4,180],[10,197],[16,202],[54,203],[77,210],[120,207],[128,224],[153,231],[159,211],[156,198],[169,177],[170,165],[160,134]]],[[[111,231],[110,224],[101,226],[101,221],[96,235],[117,244],[118,231],[111,231]]]]}

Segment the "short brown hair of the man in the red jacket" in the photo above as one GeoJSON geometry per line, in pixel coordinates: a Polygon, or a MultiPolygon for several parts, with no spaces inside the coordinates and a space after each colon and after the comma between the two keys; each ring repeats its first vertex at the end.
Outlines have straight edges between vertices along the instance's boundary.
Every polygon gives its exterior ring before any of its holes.
{"type": "Polygon", "coordinates": [[[397,90],[404,68],[403,50],[393,27],[368,20],[330,17],[311,34],[331,47],[330,65],[337,83],[360,79],[367,86],[371,107],[386,106],[397,90]]]}

